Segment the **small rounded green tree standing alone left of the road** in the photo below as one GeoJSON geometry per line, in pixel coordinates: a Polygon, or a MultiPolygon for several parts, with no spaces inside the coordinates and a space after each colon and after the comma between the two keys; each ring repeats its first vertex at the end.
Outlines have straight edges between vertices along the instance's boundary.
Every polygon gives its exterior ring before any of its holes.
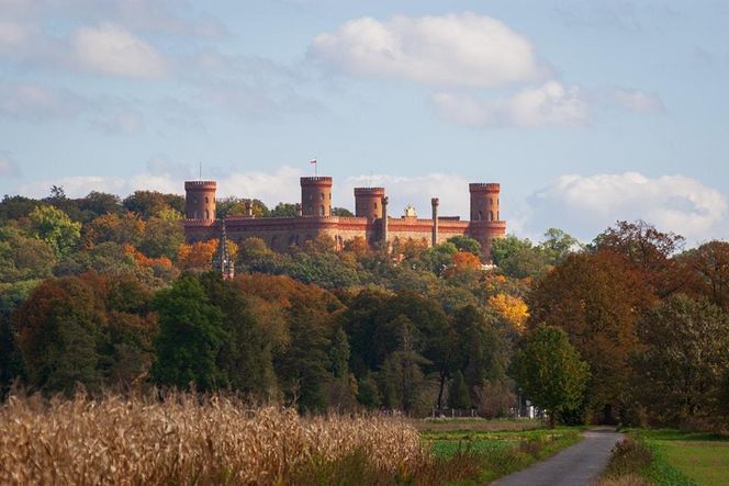
{"type": "Polygon", "coordinates": [[[514,377],[538,407],[549,412],[549,425],[582,403],[590,366],[559,328],[538,326],[514,355],[514,377]]]}

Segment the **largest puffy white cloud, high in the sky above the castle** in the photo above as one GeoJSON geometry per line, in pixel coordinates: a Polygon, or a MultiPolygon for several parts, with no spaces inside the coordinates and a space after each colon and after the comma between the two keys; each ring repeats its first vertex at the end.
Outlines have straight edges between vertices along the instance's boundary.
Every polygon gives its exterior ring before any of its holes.
{"type": "Polygon", "coordinates": [[[541,77],[531,43],[475,13],[351,20],[314,38],[311,53],[351,76],[490,88],[541,77]]]}

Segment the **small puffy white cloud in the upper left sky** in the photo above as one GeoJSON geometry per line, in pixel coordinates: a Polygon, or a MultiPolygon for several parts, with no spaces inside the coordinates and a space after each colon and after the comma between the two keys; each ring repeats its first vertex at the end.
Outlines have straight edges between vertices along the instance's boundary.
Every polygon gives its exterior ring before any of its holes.
{"type": "Polygon", "coordinates": [[[154,47],[119,25],[81,27],[71,36],[71,55],[92,71],[133,78],[157,78],[167,60],[154,47]]]}

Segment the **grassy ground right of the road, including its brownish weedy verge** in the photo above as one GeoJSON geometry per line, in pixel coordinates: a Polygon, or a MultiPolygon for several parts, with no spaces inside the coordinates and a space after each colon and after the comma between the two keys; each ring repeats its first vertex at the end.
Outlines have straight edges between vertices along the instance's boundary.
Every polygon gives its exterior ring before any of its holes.
{"type": "Polygon", "coordinates": [[[629,430],[603,485],[726,485],[729,438],[676,430],[629,430]]]}

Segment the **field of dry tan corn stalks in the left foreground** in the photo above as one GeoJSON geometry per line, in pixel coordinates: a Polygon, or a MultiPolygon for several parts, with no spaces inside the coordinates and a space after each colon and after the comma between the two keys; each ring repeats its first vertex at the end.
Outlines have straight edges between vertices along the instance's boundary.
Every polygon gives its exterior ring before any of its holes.
{"type": "Polygon", "coordinates": [[[290,484],[347,456],[390,477],[428,463],[417,431],[379,417],[300,417],[235,398],[172,395],[0,406],[0,484],[290,484]]]}

